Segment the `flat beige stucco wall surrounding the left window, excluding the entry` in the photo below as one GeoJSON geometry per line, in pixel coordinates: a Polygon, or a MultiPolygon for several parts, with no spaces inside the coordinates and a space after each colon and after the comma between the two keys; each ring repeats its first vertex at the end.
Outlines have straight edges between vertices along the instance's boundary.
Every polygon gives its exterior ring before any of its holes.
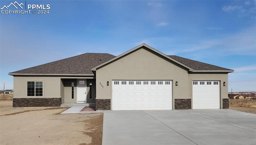
{"type": "Polygon", "coordinates": [[[14,76],[14,98],[60,98],[60,78],[44,76],[14,76]],[[43,96],[27,96],[27,82],[43,82],[43,96]]]}

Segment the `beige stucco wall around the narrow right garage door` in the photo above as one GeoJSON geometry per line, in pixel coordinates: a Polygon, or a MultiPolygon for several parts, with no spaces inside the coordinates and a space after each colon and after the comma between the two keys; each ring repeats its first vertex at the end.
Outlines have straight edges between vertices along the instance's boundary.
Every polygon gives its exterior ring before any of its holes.
{"type": "MultiPolygon", "coordinates": [[[[220,81],[220,106],[222,109],[222,99],[228,99],[228,74],[188,74],[188,94],[192,98],[192,81],[194,80],[216,80],[220,81]],[[226,82],[226,86],[223,86],[226,82]]],[[[193,100],[193,98],[192,98],[193,100]]],[[[193,105],[193,104],[192,104],[193,105]]],[[[193,108],[193,106],[192,106],[193,108]]]]}

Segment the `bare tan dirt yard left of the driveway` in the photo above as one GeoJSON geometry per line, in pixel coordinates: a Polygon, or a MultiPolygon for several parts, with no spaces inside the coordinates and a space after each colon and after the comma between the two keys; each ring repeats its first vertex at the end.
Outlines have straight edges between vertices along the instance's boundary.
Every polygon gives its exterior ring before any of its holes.
{"type": "Polygon", "coordinates": [[[60,114],[68,108],[13,108],[0,96],[1,145],[101,145],[103,114],[60,114]]]}

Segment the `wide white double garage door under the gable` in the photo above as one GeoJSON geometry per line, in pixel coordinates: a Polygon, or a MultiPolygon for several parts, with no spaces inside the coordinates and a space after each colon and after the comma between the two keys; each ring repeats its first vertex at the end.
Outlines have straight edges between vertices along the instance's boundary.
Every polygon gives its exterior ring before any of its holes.
{"type": "Polygon", "coordinates": [[[113,80],[112,110],[172,110],[172,81],[113,80]]]}

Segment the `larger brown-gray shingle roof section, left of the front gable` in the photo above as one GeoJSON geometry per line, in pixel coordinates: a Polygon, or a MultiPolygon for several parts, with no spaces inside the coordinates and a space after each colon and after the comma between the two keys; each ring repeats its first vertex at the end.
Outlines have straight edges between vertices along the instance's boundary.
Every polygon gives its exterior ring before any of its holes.
{"type": "Polygon", "coordinates": [[[93,74],[92,68],[116,56],[108,53],[84,53],[67,59],[38,65],[11,74],[93,74]]]}

